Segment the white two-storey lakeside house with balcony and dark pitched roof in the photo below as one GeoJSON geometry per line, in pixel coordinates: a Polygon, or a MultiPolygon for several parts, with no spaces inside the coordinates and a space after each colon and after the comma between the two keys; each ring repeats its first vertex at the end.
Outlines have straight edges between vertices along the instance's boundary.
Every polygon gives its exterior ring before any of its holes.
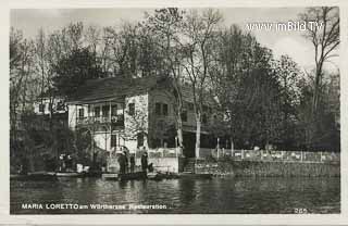
{"type": "MultiPolygon", "coordinates": [[[[87,80],[66,101],[67,125],[91,134],[95,148],[110,153],[124,148],[136,150],[172,149],[177,151],[175,129],[175,98],[171,83],[163,77],[111,77],[87,80]]],[[[184,155],[195,158],[196,120],[194,99],[183,87],[184,155]]],[[[209,134],[215,117],[214,101],[207,98],[203,105],[201,147],[216,146],[209,134]]]]}

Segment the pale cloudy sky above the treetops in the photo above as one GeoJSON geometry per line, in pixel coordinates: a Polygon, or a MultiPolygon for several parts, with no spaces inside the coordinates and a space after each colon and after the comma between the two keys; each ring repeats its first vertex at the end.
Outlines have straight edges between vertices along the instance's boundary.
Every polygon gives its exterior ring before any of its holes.
{"type": "MultiPolygon", "coordinates": [[[[187,10],[187,9],[185,9],[187,10]]],[[[224,8],[223,26],[237,24],[241,29],[252,33],[257,40],[273,50],[275,58],[288,54],[301,70],[311,71],[314,66],[314,49],[300,30],[258,29],[250,30],[250,23],[288,23],[301,22],[298,14],[304,8],[224,8]]],[[[153,9],[21,9],[11,10],[11,26],[23,30],[25,37],[34,38],[39,28],[46,33],[60,29],[72,22],[84,25],[117,26],[122,22],[138,22],[145,12],[153,9]]],[[[338,58],[326,64],[326,70],[337,71],[338,58]]]]}

